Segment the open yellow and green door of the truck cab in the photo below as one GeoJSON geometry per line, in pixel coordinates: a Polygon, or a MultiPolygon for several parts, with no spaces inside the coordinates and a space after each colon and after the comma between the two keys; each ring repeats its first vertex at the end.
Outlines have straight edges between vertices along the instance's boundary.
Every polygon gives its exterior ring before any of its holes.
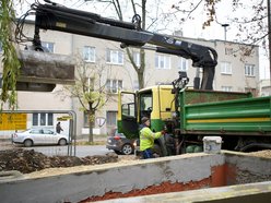
{"type": "Polygon", "coordinates": [[[118,131],[128,139],[138,138],[139,127],[137,117],[136,94],[119,92],[118,98],[118,131]]]}

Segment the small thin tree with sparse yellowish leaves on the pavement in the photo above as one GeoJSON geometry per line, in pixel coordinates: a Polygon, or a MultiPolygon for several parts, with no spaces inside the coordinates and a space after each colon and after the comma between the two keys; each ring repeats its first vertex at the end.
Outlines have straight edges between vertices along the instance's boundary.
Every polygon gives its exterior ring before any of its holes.
{"type": "Polygon", "coordinates": [[[69,96],[79,100],[82,110],[89,120],[89,142],[93,142],[93,128],[95,127],[95,115],[109,99],[106,89],[106,67],[101,62],[89,63],[81,57],[76,57],[75,84],[66,85],[57,94],[69,96]]]}

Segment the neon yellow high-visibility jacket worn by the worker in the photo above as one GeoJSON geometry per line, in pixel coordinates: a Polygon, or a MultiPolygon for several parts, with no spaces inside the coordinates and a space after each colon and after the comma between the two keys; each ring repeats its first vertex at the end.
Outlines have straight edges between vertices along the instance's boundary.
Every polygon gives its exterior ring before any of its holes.
{"type": "Polygon", "coordinates": [[[158,139],[162,135],[161,132],[152,132],[150,128],[144,127],[140,131],[140,151],[144,151],[146,148],[153,148],[154,140],[158,139]]]}

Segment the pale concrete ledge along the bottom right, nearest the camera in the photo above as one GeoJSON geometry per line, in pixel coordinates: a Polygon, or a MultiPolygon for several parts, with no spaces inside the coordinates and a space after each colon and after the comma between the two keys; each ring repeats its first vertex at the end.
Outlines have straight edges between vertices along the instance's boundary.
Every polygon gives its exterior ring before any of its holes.
{"type": "Polygon", "coordinates": [[[250,184],[239,184],[232,187],[220,187],[201,190],[190,190],[184,192],[170,192],[164,194],[142,195],[136,198],[113,199],[107,203],[191,203],[191,202],[205,202],[205,203],[270,203],[271,199],[271,182],[259,182],[250,184]]]}

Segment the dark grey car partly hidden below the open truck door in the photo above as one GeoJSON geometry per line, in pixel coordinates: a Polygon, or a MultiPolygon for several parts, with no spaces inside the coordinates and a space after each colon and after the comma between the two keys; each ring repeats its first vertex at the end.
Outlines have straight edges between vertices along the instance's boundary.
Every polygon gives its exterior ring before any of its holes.
{"type": "Polygon", "coordinates": [[[134,140],[127,139],[123,133],[114,129],[107,138],[106,148],[113,150],[116,154],[130,155],[134,152],[133,142],[134,140]]]}

